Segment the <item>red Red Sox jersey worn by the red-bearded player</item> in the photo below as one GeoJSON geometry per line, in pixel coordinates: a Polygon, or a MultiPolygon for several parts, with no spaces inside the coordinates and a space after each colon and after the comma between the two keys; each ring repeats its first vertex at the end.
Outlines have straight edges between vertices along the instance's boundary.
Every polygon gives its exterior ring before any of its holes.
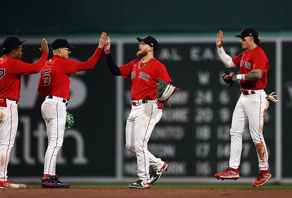
{"type": "MultiPolygon", "coordinates": [[[[166,82],[172,81],[168,76],[165,66],[156,59],[147,62],[143,69],[138,65],[141,59],[133,60],[126,65],[119,66],[124,79],[131,76],[131,99],[156,99],[157,80],[160,78],[166,82]]],[[[146,62],[145,62],[146,63],[146,62]]],[[[142,68],[145,63],[140,64],[142,68]]]]}

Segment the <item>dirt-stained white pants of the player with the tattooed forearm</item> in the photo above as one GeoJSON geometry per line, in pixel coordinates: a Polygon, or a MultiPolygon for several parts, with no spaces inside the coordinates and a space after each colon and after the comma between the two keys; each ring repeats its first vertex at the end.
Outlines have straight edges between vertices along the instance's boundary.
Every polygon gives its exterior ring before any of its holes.
{"type": "Polygon", "coordinates": [[[240,95],[235,106],[230,129],[231,148],[229,167],[237,169],[240,164],[242,150],[242,134],[247,124],[251,138],[257,149],[260,170],[268,170],[268,151],[263,137],[265,112],[269,102],[267,94],[262,90],[255,90],[256,94],[240,95]]]}

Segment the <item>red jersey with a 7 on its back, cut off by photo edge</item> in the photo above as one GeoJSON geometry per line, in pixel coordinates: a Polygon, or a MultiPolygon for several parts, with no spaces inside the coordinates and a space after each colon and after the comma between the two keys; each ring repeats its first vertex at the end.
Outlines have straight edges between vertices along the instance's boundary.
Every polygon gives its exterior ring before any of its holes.
{"type": "Polygon", "coordinates": [[[0,97],[19,101],[21,75],[39,73],[46,63],[48,53],[44,52],[34,64],[15,60],[9,56],[0,58],[0,97]]]}

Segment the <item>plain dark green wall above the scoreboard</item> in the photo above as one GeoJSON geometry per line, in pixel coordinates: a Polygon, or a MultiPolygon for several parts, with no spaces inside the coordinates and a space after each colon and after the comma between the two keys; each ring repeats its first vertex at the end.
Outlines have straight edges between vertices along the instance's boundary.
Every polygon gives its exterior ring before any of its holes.
{"type": "Polygon", "coordinates": [[[1,35],[292,31],[290,0],[0,1],[1,35]]]}

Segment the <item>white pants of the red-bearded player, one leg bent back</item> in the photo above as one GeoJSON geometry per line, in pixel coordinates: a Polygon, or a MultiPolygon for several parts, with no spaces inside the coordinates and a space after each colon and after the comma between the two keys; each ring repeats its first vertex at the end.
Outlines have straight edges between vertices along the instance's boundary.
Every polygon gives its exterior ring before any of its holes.
{"type": "Polygon", "coordinates": [[[161,161],[148,151],[147,143],[152,130],[162,116],[155,103],[133,106],[126,123],[126,147],[137,156],[139,179],[150,183],[149,165],[161,161]]]}

